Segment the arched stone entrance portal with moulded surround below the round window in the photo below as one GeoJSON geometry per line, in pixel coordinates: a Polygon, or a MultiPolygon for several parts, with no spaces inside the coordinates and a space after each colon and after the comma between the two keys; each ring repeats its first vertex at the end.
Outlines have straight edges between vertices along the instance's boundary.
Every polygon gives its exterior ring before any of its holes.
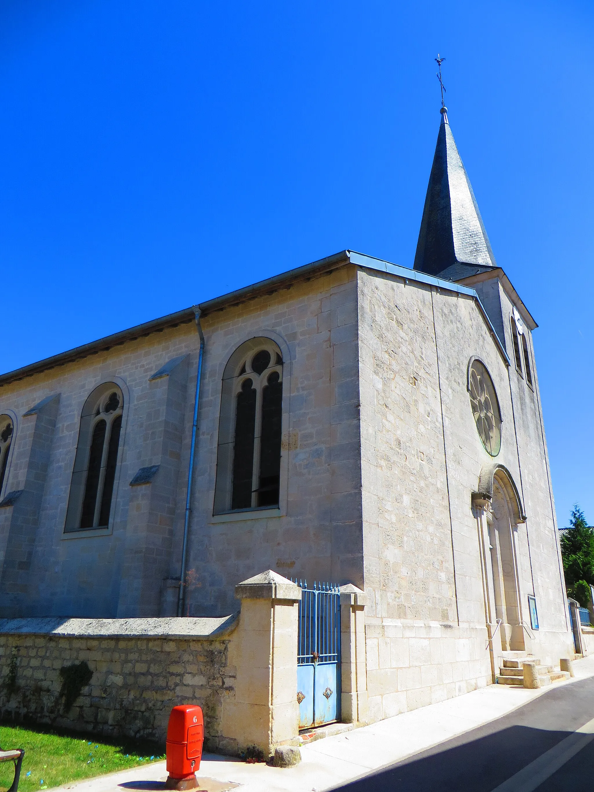
{"type": "MultiPolygon", "coordinates": [[[[501,465],[483,468],[474,493],[484,542],[485,611],[489,634],[501,619],[501,649],[527,649],[522,626],[522,593],[517,556],[517,527],[526,516],[520,493],[509,471],[501,465]],[[489,562],[490,557],[490,562],[489,562]]],[[[493,647],[492,647],[493,650],[493,647]]]]}

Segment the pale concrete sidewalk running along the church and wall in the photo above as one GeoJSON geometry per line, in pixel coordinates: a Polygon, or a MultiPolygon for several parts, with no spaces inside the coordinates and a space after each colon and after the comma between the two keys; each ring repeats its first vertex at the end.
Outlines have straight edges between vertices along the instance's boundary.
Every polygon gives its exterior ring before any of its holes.
{"type": "MultiPolygon", "coordinates": [[[[575,661],[573,666],[575,678],[554,686],[525,690],[524,687],[489,685],[336,737],[326,737],[303,746],[302,762],[286,770],[205,754],[198,773],[201,786],[208,792],[224,792],[237,787],[241,787],[241,792],[329,790],[501,718],[551,687],[562,687],[594,676],[594,656],[575,661]]],[[[158,762],[57,789],[76,792],[161,790],[165,788],[166,777],[165,762],[158,762]]]]}

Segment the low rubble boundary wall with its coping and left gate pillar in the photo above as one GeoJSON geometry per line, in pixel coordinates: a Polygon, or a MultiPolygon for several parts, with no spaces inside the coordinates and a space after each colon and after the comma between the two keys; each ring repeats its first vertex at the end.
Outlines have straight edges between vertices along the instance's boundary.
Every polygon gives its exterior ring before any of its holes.
{"type": "Polygon", "coordinates": [[[216,619],[0,619],[0,718],[163,744],[171,708],[199,704],[208,751],[299,742],[301,589],[268,569],[235,596],[240,612],[216,619]],[[67,703],[60,672],[78,664],[67,703]]]}

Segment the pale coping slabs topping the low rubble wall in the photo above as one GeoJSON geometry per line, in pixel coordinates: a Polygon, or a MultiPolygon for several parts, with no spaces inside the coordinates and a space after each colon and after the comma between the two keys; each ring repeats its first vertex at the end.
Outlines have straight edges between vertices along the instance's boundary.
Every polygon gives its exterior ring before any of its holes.
{"type": "Polygon", "coordinates": [[[55,635],[70,638],[213,638],[229,632],[238,617],[170,617],[155,619],[0,619],[0,634],[55,635]]]}

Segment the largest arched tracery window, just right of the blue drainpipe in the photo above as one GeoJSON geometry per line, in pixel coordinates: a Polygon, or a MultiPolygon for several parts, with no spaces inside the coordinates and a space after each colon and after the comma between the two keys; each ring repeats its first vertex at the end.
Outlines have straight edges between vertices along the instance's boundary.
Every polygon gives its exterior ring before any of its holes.
{"type": "Polygon", "coordinates": [[[272,339],[253,338],[223,373],[215,514],[278,507],[282,416],[283,356],[272,339]]]}

